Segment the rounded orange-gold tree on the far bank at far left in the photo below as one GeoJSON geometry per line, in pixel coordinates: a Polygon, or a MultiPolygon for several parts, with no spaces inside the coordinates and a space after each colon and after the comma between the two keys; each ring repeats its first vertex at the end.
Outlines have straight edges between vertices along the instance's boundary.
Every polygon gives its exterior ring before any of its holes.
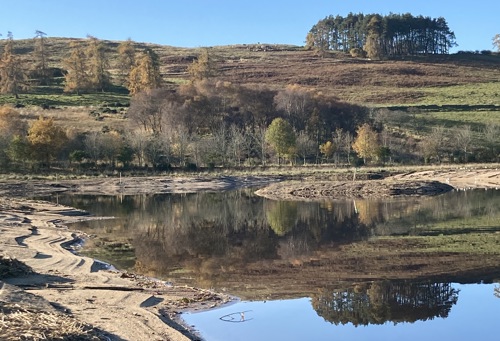
{"type": "Polygon", "coordinates": [[[40,116],[28,130],[28,142],[33,159],[46,165],[55,159],[67,140],[66,133],[54,123],[53,118],[40,116]]]}

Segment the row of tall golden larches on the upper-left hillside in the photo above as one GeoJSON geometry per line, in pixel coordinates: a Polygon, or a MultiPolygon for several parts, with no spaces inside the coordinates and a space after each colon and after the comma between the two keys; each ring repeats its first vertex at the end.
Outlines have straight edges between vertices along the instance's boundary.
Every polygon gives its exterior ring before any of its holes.
{"type": "Polygon", "coordinates": [[[13,34],[8,33],[0,55],[1,94],[18,98],[33,86],[54,83],[56,77],[64,78],[64,92],[78,95],[110,91],[114,86],[123,86],[131,94],[162,86],[158,55],[148,47],[137,50],[130,39],[117,48],[118,71],[113,75],[109,48],[94,36],[70,41],[61,68],[49,65],[52,56],[44,32],[36,31],[33,42],[33,52],[22,59],[16,52],[13,34]]]}

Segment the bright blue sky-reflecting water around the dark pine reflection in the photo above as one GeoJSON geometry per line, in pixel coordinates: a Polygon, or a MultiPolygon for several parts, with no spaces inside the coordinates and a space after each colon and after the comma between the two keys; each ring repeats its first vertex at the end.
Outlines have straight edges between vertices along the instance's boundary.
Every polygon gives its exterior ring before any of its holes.
{"type": "Polygon", "coordinates": [[[334,324],[318,315],[310,298],[240,302],[183,317],[210,341],[495,339],[500,313],[500,299],[493,295],[495,286],[452,284],[452,287],[459,292],[459,304],[452,307],[446,318],[429,317],[413,323],[334,324]],[[245,312],[245,320],[241,320],[239,312],[245,312]],[[234,321],[221,319],[228,314],[233,314],[234,321]]]}

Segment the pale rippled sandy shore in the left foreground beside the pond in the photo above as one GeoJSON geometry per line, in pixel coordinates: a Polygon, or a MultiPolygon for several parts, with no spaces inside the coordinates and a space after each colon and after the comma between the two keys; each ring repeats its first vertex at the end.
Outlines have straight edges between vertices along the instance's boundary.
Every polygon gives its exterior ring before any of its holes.
{"type": "Polygon", "coordinates": [[[27,299],[23,291],[0,285],[0,305],[28,300],[35,310],[55,306],[97,327],[110,340],[193,340],[197,338],[176,322],[177,313],[231,300],[207,290],[104,270],[93,259],[75,255],[63,247],[77,237],[65,224],[88,219],[79,213],[50,203],[2,200],[0,254],[34,271],[4,281],[43,300],[27,299]]]}

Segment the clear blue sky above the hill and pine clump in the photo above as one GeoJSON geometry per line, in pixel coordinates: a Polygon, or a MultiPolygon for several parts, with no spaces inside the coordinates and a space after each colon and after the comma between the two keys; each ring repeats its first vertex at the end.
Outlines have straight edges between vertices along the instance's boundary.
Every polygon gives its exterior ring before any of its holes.
{"type": "Polygon", "coordinates": [[[328,15],[411,13],[444,17],[458,47],[492,50],[500,33],[499,0],[0,0],[0,34],[149,42],[177,47],[304,45],[328,15]]]}

